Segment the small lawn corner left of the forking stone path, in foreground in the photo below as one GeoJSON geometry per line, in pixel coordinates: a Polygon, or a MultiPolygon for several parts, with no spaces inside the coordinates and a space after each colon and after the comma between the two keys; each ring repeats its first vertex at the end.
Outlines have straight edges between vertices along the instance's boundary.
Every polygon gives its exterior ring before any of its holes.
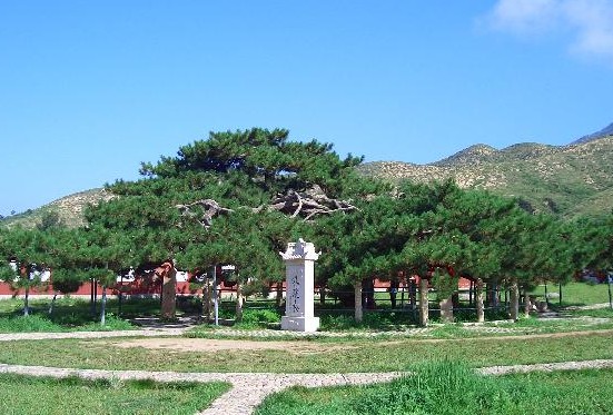
{"type": "Polygon", "coordinates": [[[1,414],[189,414],[207,408],[226,383],[56,379],[0,375],[1,414]]]}

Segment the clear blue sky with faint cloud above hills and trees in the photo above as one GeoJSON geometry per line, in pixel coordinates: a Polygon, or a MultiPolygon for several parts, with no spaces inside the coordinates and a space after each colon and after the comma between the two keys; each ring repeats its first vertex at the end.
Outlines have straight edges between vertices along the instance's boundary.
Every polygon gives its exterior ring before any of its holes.
{"type": "Polygon", "coordinates": [[[425,164],[613,121],[613,0],[0,0],[0,215],[290,130],[425,164]]]}

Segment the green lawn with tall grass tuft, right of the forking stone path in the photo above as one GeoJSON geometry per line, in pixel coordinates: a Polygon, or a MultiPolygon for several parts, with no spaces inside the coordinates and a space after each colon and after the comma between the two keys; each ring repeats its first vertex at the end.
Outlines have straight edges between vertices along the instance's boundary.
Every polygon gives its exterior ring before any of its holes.
{"type": "Polygon", "coordinates": [[[612,383],[612,369],[494,377],[428,363],[388,384],[293,387],[266,398],[256,414],[611,414],[612,383]]]}

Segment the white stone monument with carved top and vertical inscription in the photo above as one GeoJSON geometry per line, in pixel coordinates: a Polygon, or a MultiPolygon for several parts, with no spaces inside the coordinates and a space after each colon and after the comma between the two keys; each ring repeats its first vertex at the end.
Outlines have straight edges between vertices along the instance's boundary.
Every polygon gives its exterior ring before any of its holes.
{"type": "Polygon", "coordinates": [[[300,238],[297,243],[287,244],[287,250],[279,254],[285,261],[287,289],[281,329],[317,332],[319,317],[315,317],[313,313],[314,268],[320,253],[315,251],[312,243],[305,243],[300,238]]]}

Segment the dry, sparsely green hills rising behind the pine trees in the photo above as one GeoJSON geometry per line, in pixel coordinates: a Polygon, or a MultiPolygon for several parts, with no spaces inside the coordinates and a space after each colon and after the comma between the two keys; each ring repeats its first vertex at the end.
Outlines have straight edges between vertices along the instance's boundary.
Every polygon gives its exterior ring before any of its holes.
{"type": "MultiPolygon", "coordinates": [[[[428,165],[374,161],[358,166],[358,170],[393,181],[451,178],[462,188],[518,198],[525,209],[535,213],[603,215],[613,210],[613,123],[567,146],[523,142],[498,150],[477,144],[428,165]]],[[[78,226],[87,204],[109,197],[103,189],[86,190],[7,217],[0,224],[34,226],[45,213],[57,211],[63,224],[78,226]]]]}

